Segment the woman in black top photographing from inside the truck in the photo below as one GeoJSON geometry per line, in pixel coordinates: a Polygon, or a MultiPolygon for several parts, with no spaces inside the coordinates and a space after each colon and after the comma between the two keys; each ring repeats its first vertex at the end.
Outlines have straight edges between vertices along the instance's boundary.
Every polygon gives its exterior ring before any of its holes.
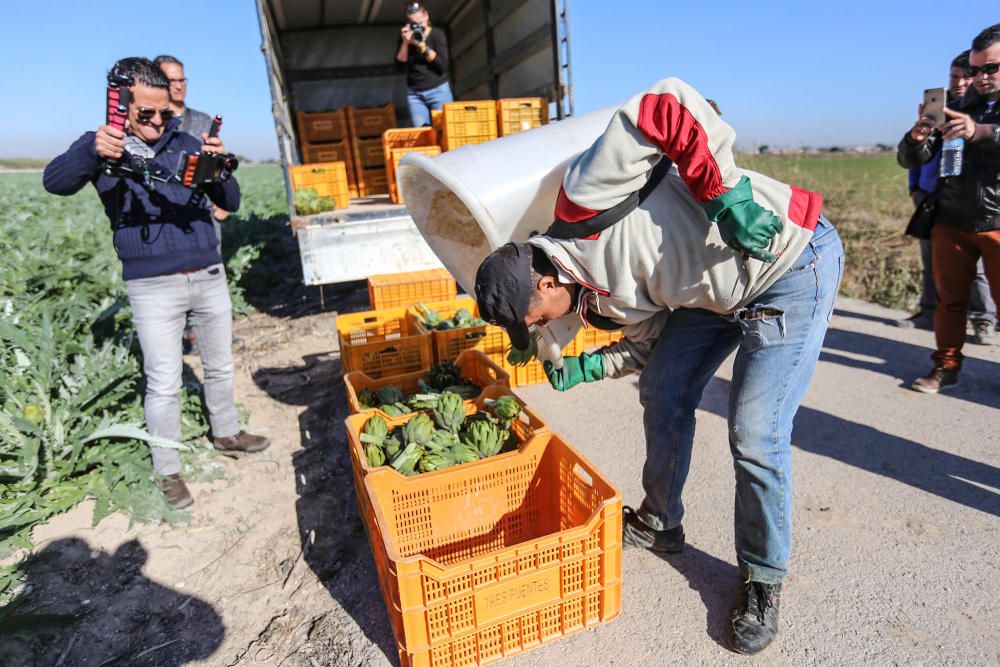
{"type": "Polygon", "coordinates": [[[413,127],[431,124],[431,111],[454,100],[448,85],[448,40],[431,26],[427,8],[406,5],[406,24],[396,48],[396,69],[406,72],[406,103],[413,127]]]}

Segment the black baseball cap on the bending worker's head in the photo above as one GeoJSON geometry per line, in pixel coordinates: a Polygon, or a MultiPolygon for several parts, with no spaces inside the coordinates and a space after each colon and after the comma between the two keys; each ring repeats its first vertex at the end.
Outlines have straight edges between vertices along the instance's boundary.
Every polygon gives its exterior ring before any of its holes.
{"type": "Polygon", "coordinates": [[[503,327],[511,345],[527,350],[531,333],[524,318],[531,305],[531,252],[527,243],[502,245],[483,260],[476,272],[479,316],[503,327]]]}

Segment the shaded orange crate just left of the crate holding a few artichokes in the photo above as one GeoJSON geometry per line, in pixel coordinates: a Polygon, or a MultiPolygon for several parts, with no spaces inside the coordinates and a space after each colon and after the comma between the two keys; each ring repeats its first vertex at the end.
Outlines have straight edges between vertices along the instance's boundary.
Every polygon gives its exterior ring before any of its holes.
{"type": "Polygon", "coordinates": [[[381,378],[413,373],[434,363],[431,337],[409,329],[405,308],[338,315],[337,336],[344,373],[361,371],[381,378]]]}

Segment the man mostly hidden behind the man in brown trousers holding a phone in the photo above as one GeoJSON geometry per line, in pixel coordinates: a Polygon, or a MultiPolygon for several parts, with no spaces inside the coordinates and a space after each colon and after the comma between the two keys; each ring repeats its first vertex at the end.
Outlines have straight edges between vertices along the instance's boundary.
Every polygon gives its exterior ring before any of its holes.
{"type": "MultiPolygon", "coordinates": [[[[951,61],[951,71],[948,76],[948,102],[957,103],[965,95],[972,83],[972,77],[967,73],[969,67],[969,51],[963,51],[951,61]]],[[[937,186],[938,165],[941,153],[938,152],[930,162],[910,169],[910,197],[913,205],[919,206],[924,197],[934,191],[937,186]]],[[[934,309],[937,307],[937,288],[934,287],[934,273],[931,269],[931,240],[920,240],[921,289],[920,310],[905,320],[896,324],[905,329],[934,329],[934,309]]],[[[969,320],[972,322],[972,342],[978,345],[993,345],[996,335],[993,328],[997,322],[996,305],[990,297],[990,286],[986,281],[983,260],[976,265],[976,280],[969,296],[969,320]]]]}

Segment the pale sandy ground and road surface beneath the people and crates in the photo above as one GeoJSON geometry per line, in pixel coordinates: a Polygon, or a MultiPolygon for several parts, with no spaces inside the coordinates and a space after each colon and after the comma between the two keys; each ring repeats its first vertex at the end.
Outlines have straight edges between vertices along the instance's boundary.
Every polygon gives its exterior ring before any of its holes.
{"type": "MultiPolygon", "coordinates": [[[[721,645],[738,585],[726,364],[698,413],[684,552],[626,552],[617,620],[506,664],[1000,664],[1000,348],[967,347],[960,388],[917,394],[905,384],[929,369],[932,334],[891,326],[900,316],[838,304],[796,420],[792,575],[768,651],[721,645]]],[[[36,531],[36,599],[87,613],[34,643],[0,639],[8,664],[398,664],[357,515],[333,323],[238,323],[237,398],[274,444],[193,484],[190,522],[91,527],[83,506],[36,531]]],[[[639,503],[634,381],[518,393],[639,503]]]]}

